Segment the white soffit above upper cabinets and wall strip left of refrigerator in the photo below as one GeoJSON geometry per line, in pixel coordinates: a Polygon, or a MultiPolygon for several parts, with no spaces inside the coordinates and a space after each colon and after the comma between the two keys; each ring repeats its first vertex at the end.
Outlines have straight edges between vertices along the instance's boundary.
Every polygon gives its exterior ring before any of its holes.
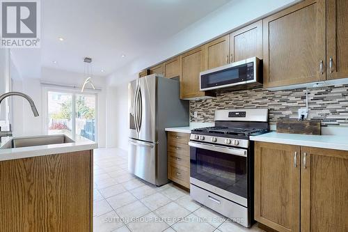
{"type": "MultiPolygon", "coordinates": [[[[261,19],[265,15],[270,15],[275,10],[280,10],[299,0],[244,0],[231,1],[213,13],[210,13],[198,22],[191,24],[173,38],[164,41],[157,47],[149,47],[148,52],[139,56],[132,63],[116,70],[108,77],[109,84],[117,86],[116,95],[110,96],[116,104],[117,118],[116,139],[117,146],[127,149],[128,134],[128,110],[127,110],[127,82],[138,78],[139,70],[160,63],[166,59],[180,54],[188,49],[197,47],[208,40],[212,40],[223,33],[233,31],[250,22],[261,19]]],[[[111,101],[111,100],[110,100],[111,101]]]]}

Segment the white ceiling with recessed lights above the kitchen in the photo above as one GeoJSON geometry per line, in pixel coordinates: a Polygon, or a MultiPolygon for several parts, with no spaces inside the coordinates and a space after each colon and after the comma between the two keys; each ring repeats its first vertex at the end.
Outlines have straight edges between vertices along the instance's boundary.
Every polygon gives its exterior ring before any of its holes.
{"type": "Polygon", "coordinates": [[[84,72],[85,56],[93,59],[94,75],[106,76],[228,1],[41,1],[40,52],[12,52],[23,77],[38,76],[41,67],[84,72]],[[59,37],[65,40],[61,42],[59,37]]]}

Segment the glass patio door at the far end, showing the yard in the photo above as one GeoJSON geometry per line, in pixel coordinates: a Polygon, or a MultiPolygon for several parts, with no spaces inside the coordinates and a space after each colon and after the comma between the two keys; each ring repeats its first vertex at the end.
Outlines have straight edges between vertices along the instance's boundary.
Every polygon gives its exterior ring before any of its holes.
{"type": "Polygon", "coordinates": [[[96,94],[47,91],[47,132],[96,141],[96,94]]]}

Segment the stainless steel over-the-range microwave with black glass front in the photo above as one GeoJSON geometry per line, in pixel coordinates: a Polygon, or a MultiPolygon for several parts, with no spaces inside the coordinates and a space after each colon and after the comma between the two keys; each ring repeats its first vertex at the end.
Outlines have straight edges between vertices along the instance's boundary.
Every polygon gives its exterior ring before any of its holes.
{"type": "Polygon", "coordinates": [[[262,61],[258,57],[200,72],[200,91],[258,86],[262,86],[262,61]]]}

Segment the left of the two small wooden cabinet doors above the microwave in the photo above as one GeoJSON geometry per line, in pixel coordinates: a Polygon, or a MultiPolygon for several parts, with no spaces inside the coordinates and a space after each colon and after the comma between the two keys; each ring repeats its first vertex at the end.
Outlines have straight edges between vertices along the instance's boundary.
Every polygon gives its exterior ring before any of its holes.
{"type": "Polygon", "coordinates": [[[207,69],[229,63],[229,40],[229,36],[223,36],[205,45],[207,49],[207,69]]]}

